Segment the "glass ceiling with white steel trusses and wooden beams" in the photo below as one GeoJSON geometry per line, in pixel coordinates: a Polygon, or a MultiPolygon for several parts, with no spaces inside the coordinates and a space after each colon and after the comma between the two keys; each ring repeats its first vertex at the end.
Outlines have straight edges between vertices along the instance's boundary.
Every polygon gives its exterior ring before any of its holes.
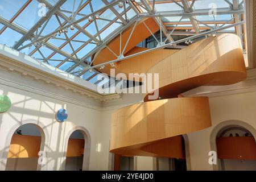
{"type": "MultiPolygon", "coordinates": [[[[114,79],[98,80],[96,69],[85,68],[110,35],[118,35],[139,15],[161,15],[166,33],[181,39],[238,23],[244,19],[241,11],[242,0],[0,0],[0,43],[103,86],[114,79]],[[212,10],[216,16],[209,15],[212,10]]],[[[238,34],[244,45],[243,29],[239,25],[222,32],[238,34]]]]}

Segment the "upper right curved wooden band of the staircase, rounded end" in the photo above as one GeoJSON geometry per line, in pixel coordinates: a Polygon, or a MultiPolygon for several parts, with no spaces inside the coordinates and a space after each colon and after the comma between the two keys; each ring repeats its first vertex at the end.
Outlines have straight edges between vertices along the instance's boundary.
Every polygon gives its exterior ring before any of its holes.
{"type": "MultiPolygon", "coordinates": [[[[159,73],[162,98],[174,98],[203,85],[234,84],[247,76],[241,40],[234,34],[191,44],[155,64],[147,73],[159,73]]],[[[148,101],[147,96],[144,101],[148,101]]]]}

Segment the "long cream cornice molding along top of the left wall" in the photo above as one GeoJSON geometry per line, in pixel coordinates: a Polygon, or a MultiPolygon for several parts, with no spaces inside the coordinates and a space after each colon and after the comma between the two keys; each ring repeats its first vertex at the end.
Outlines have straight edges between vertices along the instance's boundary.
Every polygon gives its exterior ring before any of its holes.
{"type": "Polygon", "coordinates": [[[101,102],[119,100],[121,98],[119,94],[102,95],[97,92],[96,85],[63,72],[60,69],[53,68],[50,65],[39,63],[38,60],[2,44],[0,44],[0,67],[5,68],[9,72],[20,73],[22,76],[30,76],[38,81],[42,80],[46,84],[52,84],[65,90],[72,90],[74,93],[80,93],[101,102]],[[27,57],[27,59],[20,57],[27,57]]]}

